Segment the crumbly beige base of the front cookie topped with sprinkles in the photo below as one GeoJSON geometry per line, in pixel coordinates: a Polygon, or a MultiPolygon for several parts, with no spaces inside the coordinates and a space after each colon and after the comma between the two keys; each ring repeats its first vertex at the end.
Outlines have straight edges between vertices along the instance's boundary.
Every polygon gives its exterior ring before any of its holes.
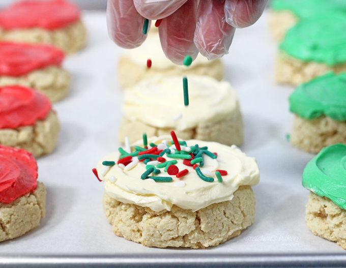
{"type": "Polygon", "coordinates": [[[125,204],[103,196],[103,208],[113,232],[148,247],[206,248],[217,246],[254,222],[255,197],[250,186],[241,186],[230,201],[192,212],[173,206],[154,212],[149,207],[125,204]]]}

